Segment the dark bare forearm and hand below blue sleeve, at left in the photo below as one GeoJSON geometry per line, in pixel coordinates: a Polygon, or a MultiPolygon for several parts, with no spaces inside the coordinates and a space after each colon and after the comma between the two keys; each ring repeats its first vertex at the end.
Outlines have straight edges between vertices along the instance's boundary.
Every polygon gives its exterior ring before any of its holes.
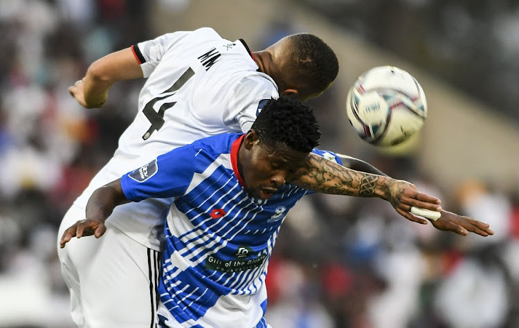
{"type": "Polygon", "coordinates": [[[64,248],[73,237],[94,235],[101,237],[107,230],[104,221],[111,215],[116,206],[128,203],[128,199],[122,192],[120,179],[112,181],[101,188],[96,189],[86,203],[86,219],[80,220],[67,228],[60,240],[60,247],[64,248]]]}

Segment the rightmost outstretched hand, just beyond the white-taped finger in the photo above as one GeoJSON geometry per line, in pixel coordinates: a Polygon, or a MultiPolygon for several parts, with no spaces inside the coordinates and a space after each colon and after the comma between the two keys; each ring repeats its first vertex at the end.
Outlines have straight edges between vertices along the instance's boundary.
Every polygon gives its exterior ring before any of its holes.
{"type": "Polygon", "coordinates": [[[431,223],[432,226],[435,226],[438,230],[452,231],[453,233],[462,236],[467,235],[469,231],[484,237],[494,234],[494,232],[489,228],[489,224],[471,219],[470,217],[457,215],[446,210],[442,210],[441,217],[436,221],[431,221],[431,223]]]}

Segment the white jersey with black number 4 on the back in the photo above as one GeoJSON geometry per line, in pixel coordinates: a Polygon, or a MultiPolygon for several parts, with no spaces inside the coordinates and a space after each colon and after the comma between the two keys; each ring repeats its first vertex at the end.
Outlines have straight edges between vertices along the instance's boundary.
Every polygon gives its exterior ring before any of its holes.
{"type": "MultiPolygon", "coordinates": [[[[279,96],[275,82],[258,71],[245,42],[230,42],[212,28],[169,33],[133,49],[147,78],[138,114],[120,136],[113,158],[75,201],[82,208],[95,189],[158,155],[207,136],[248,131],[258,109],[279,96]]],[[[108,221],[136,242],[161,250],[170,203],[127,203],[108,221]]]]}

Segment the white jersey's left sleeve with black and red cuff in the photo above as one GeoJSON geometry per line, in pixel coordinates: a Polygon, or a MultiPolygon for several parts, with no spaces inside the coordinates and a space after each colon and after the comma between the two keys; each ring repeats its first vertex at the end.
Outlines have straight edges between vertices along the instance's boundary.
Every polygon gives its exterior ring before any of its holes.
{"type": "Polygon", "coordinates": [[[140,64],[140,69],[143,70],[144,78],[148,78],[149,75],[152,74],[158,63],[161,62],[164,54],[170,50],[170,48],[190,35],[190,33],[192,32],[179,31],[167,33],[155,39],[140,42],[132,46],[131,48],[140,64]]]}

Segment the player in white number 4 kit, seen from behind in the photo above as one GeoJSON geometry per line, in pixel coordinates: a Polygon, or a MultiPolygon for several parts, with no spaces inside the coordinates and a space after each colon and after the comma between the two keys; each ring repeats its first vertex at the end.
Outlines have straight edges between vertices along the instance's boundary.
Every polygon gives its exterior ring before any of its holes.
{"type": "MultiPolygon", "coordinates": [[[[134,122],[120,137],[113,158],[66,213],[59,234],[84,217],[86,201],[96,188],[199,138],[248,131],[268,99],[289,95],[305,100],[324,91],[337,73],[334,52],[314,35],[291,35],[251,53],[242,40],[223,39],[211,28],[169,33],[97,60],[69,88],[84,107],[102,107],[115,82],[147,81],[134,122]]],[[[355,158],[345,161],[357,170],[380,173],[355,158]]],[[[102,242],[75,240],[58,250],[78,326],[154,325],[160,236],[168,203],[147,199],[118,206],[107,220],[102,242]]],[[[399,213],[427,222],[406,210],[399,213]]],[[[489,231],[478,221],[445,211],[433,224],[461,235],[489,231]]]]}

